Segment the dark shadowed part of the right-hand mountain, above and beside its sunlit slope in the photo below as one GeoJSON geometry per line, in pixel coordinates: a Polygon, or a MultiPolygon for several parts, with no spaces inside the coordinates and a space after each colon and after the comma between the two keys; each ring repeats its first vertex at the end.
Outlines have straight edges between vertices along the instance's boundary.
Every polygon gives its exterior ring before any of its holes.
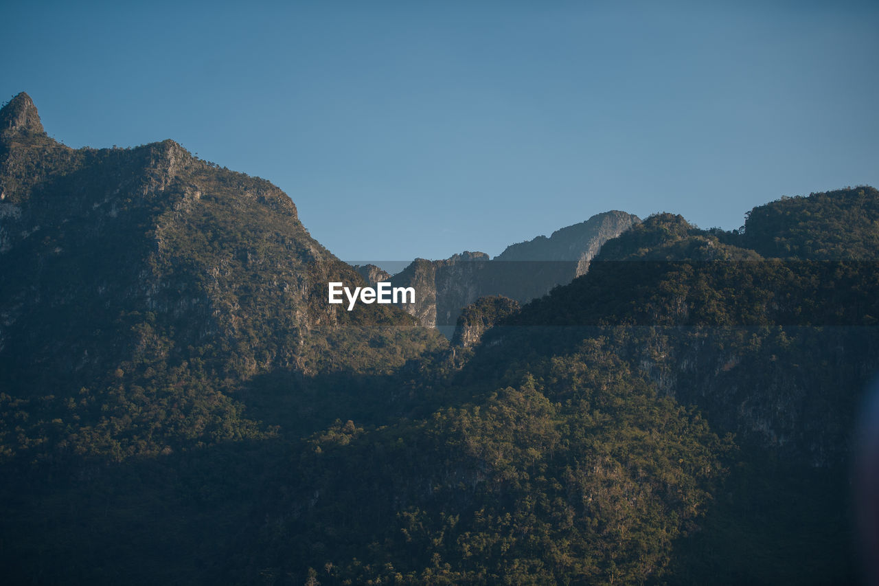
{"type": "Polygon", "coordinates": [[[587,275],[484,333],[461,376],[482,385],[498,370],[555,364],[585,341],[610,343],[660,395],[698,406],[741,448],[701,533],[679,542],[670,582],[855,583],[851,458],[879,372],[879,247],[868,221],[877,195],[864,187],[768,204],[786,218],[779,238],[652,216],[608,242],[587,275]],[[847,218],[858,219],[840,234],[847,218]],[[856,251],[842,258],[858,260],[826,260],[840,239],[856,251]],[[764,258],[745,247],[755,241],[784,241],[797,258],[764,258]]]}

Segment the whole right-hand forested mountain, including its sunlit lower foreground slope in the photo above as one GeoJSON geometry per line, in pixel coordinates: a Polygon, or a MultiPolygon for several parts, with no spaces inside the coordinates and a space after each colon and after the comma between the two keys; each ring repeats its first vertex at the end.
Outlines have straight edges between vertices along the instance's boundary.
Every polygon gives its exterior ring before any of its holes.
{"type": "MultiPolygon", "coordinates": [[[[839,236],[810,218],[876,201],[791,202],[793,244],[824,250],[839,236]]],[[[254,516],[261,553],[236,565],[330,583],[858,583],[872,237],[860,260],[766,258],[747,228],[660,214],[519,311],[477,302],[462,322],[496,319],[443,405],[313,436],[254,516]]]]}

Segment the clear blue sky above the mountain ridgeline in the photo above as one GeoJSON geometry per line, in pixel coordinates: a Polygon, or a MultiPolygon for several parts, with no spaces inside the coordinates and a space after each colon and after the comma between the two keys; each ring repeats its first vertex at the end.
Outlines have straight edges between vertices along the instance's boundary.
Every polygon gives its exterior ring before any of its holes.
{"type": "Polygon", "coordinates": [[[879,3],[729,4],[4,3],[0,99],[270,179],[345,260],[879,187],[879,3]]]}

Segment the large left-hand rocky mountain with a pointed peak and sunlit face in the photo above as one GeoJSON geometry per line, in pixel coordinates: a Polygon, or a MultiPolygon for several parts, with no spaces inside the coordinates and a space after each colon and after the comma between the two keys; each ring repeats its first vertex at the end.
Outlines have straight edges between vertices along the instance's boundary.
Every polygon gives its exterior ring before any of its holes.
{"type": "Polygon", "coordinates": [[[327,304],[327,282],[360,276],[268,181],[173,141],[69,149],[26,94],[0,121],[4,452],[125,458],[263,433],[236,407],[252,381],[287,372],[295,393],[439,343],[394,307],[327,304]]]}

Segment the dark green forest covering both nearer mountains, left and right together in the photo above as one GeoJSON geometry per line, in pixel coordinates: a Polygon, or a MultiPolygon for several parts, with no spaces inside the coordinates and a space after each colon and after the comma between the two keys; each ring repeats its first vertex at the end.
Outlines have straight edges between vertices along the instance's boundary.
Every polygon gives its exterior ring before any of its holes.
{"type": "Polygon", "coordinates": [[[875,189],[651,216],[451,348],[262,179],[0,132],[4,582],[857,582],[875,189]]]}

